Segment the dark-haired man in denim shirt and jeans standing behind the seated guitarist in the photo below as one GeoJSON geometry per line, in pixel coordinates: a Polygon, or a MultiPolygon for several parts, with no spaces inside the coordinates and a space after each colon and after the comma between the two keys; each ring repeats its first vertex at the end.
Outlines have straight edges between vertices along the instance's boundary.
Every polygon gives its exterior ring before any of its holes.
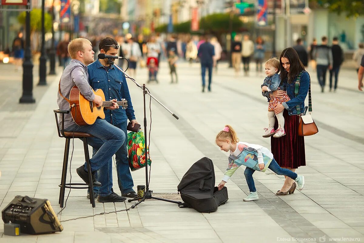
{"type": "MultiPolygon", "coordinates": [[[[115,39],[104,38],[100,40],[99,50],[100,53],[105,53],[106,55],[116,56],[118,55],[119,45],[115,39]]],[[[105,120],[110,124],[120,128],[124,131],[127,137],[127,119],[134,124],[138,124],[135,119],[134,109],[131,103],[128,84],[126,82],[124,74],[110,65],[108,59],[97,59],[94,63],[88,66],[88,77],[90,85],[93,89],[102,89],[105,94],[106,100],[108,99],[126,99],[128,102],[128,107],[124,109],[114,109],[105,110],[105,120]]],[[[114,59],[112,59],[114,61],[114,59]]],[[[128,153],[127,153],[127,140],[124,141],[120,149],[115,153],[116,155],[116,171],[118,175],[118,184],[122,196],[126,197],[137,197],[138,195],[133,190],[133,180],[131,177],[129,163],[128,163],[128,153]]],[[[96,150],[94,149],[94,153],[96,150]]],[[[112,163],[109,163],[112,165],[112,163]]],[[[112,173],[112,166],[106,168],[106,166],[98,171],[101,175],[106,173],[112,173]],[[105,171],[105,170],[108,171],[105,171]]],[[[112,181],[111,178],[107,185],[102,185],[102,187],[107,187],[107,190],[112,191],[112,181]]],[[[99,200],[99,199],[98,199],[99,200]]],[[[107,200],[106,200],[107,201],[107,200]]],[[[105,201],[103,201],[105,202],[105,201]]]]}

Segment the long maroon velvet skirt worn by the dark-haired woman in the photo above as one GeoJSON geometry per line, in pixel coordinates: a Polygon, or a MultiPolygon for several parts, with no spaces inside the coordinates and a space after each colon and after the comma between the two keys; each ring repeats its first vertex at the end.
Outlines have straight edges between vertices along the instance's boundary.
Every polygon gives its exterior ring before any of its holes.
{"type": "MultiPolygon", "coordinates": [[[[280,138],[272,136],[270,146],[278,165],[296,169],[299,166],[306,165],[305,140],[304,137],[298,136],[300,117],[298,115],[288,115],[287,110],[284,110],[283,117],[286,135],[280,138]]],[[[277,128],[278,121],[276,118],[274,129],[277,128]]]]}

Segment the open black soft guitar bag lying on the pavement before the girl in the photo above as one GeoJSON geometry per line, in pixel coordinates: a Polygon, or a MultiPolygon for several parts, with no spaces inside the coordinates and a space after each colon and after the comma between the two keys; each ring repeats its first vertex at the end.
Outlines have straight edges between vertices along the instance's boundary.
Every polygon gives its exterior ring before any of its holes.
{"type": "Polygon", "coordinates": [[[185,202],[178,206],[194,208],[200,213],[214,212],[229,199],[226,187],[220,191],[215,187],[214,165],[207,157],[201,158],[191,166],[177,189],[185,202]]]}

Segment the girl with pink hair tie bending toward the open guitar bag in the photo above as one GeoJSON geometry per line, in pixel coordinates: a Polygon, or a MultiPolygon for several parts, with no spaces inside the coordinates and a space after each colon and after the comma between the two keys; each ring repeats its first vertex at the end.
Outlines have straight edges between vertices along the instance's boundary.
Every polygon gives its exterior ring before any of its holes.
{"type": "MultiPolygon", "coordinates": [[[[246,166],[244,175],[250,191],[249,196],[243,199],[244,201],[253,201],[259,198],[254,185],[253,173],[255,171],[264,172],[266,168],[269,168],[277,175],[284,175],[292,178],[297,182],[298,189],[302,190],[304,187],[305,179],[303,176],[297,176],[296,173],[289,169],[282,169],[274,160],[273,154],[269,149],[257,144],[239,142],[236,132],[230,125],[226,125],[225,128],[217,134],[216,144],[221,150],[230,152],[229,165],[218,186],[219,190],[224,187],[225,183],[240,165],[246,166]]],[[[292,194],[295,189],[296,183],[293,183],[288,191],[282,192],[280,195],[292,194]]]]}

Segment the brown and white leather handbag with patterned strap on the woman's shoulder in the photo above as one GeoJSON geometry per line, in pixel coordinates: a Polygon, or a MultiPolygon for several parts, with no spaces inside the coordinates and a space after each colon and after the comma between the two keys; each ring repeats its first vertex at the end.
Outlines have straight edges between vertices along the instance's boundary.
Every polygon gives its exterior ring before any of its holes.
{"type": "MultiPolygon", "coordinates": [[[[298,77],[296,79],[296,83],[294,84],[294,95],[295,96],[298,95],[301,74],[302,74],[302,72],[298,75],[298,77]]],[[[303,114],[301,113],[299,105],[296,106],[296,110],[297,110],[297,115],[300,115],[300,124],[298,125],[298,136],[311,136],[313,134],[318,133],[318,128],[311,117],[311,112],[312,112],[311,80],[310,80],[310,85],[308,88],[308,112],[309,112],[309,114],[306,114],[307,106],[305,107],[303,114]]]]}

